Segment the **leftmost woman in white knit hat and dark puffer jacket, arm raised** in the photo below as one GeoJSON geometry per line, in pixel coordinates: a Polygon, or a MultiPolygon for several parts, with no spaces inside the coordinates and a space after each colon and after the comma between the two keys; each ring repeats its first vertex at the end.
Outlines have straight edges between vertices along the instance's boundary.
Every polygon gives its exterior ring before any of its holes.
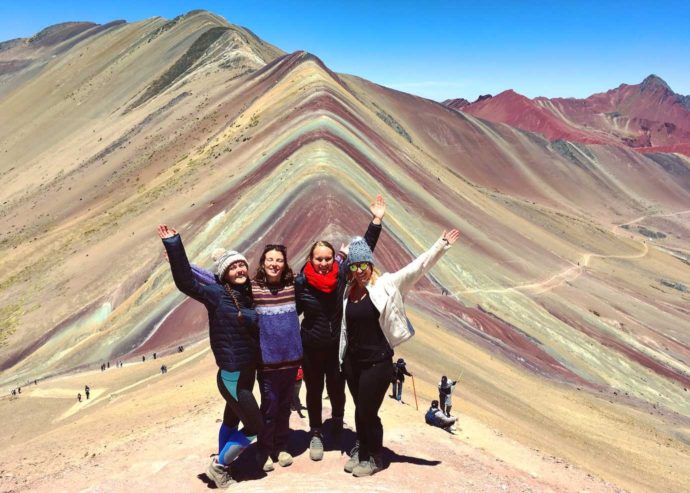
{"type": "Polygon", "coordinates": [[[235,482],[228,466],[263,427],[252,394],[260,353],[247,259],[233,250],[217,255],[216,282],[204,285],[194,278],[177,232],[161,225],[158,235],[170,259],[175,285],[203,303],[208,312],[209,340],[218,365],[216,382],[225,399],[225,412],[218,432],[218,456],[211,459],[206,474],[218,488],[227,488],[235,482]],[[240,421],[244,424],[242,430],[238,429],[240,421]]]}

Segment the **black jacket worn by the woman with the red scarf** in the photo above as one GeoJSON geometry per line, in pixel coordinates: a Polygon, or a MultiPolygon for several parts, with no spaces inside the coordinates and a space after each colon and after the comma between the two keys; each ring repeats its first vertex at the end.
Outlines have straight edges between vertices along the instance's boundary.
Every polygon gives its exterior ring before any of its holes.
{"type": "MultiPolygon", "coordinates": [[[[364,240],[374,251],[381,234],[381,225],[369,223],[364,240]]],[[[338,271],[338,284],[331,293],[324,293],[309,284],[304,267],[295,279],[297,311],[302,320],[302,345],[305,349],[330,349],[340,342],[340,323],[343,318],[343,293],[347,285],[347,266],[338,271]]]]}

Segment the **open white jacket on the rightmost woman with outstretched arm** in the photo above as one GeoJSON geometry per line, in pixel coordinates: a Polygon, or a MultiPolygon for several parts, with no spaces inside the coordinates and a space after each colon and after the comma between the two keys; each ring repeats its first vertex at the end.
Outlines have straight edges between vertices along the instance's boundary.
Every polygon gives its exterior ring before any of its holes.
{"type": "MultiPolygon", "coordinates": [[[[371,302],[379,311],[379,324],[383,335],[391,348],[398,346],[414,335],[414,329],[407,320],[403,296],[412,286],[426,275],[450,248],[443,239],[439,239],[426,252],[397,272],[382,274],[372,285],[367,285],[371,302]]],[[[345,289],[343,296],[343,321],[340,325],[340,363],[343,363],[347,349],[347,297],[351,286],[345,289]]]]}

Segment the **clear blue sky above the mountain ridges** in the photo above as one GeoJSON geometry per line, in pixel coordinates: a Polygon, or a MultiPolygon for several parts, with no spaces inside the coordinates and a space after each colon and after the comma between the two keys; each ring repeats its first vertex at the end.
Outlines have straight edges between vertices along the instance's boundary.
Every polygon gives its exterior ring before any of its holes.
{"type": "Polygon", "coordinates": [[[436,100],[506,89],[586,97],[651,73],[690,94],[690,2],[562,3],[0,0],[0,40],[70,20],[134,22],[202,8],[336,72],[436,100]]]}

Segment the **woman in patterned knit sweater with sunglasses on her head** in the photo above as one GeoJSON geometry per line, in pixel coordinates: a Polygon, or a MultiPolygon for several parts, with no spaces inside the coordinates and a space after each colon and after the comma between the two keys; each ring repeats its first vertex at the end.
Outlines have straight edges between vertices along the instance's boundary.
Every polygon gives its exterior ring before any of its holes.
{"type": "MultiPolygon", "coordinates": [[[[194,268],[201,270],[197,266],[194,268]]],[[[251,281],[259,325],[261,364],[257,379],[264,419],[257,449],[259,462],[266,472],[274,469],[274,461],[283,467],[293,461],[287,451],[290,408],[302,362],[294,278],[288,264],[287,248],[284,245],[266,245],[251,281]]]]}

